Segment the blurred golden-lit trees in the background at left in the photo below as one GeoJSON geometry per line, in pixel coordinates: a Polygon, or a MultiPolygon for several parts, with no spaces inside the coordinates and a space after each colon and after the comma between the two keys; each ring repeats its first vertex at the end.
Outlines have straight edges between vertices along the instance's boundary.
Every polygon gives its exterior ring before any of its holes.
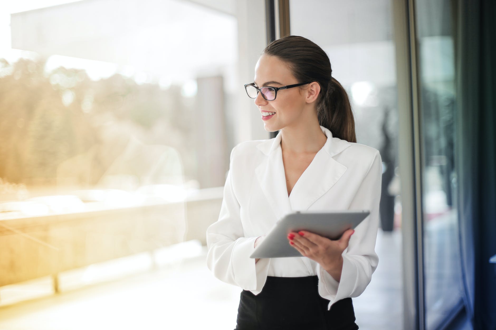
{"type": "Polygon", "coordinates": [[[0,58],[0,178],[54,182],[62,161],[97,143],[92,118],[107,111],[130,119],[129,133],[146,143],[177,149],[192,176],[194,101],[185,100],[179,86],[138,85],[120,74],[93,81],[79,69],[45,72],[45,63],[0,58]]]}

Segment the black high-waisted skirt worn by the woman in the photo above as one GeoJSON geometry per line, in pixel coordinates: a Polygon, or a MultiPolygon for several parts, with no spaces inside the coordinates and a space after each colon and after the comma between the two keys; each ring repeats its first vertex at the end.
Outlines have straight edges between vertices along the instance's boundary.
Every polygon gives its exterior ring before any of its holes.
{"type": "Polygon", "coordinates": [[[356,330],[351,298],[335,302],[318,294],[318,277],[267,276],[262,291],[243,290],[236,330],[356,330]]]}

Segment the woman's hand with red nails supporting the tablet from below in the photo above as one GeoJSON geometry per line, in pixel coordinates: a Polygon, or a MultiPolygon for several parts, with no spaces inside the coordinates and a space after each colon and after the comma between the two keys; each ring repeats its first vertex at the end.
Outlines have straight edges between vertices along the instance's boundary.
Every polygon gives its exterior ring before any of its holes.
{"type": "Polygon", "coordinates": [[[348,247],[350,237],[354,232],[355,230],[348,229],[339,240],[330,240],[310,231],[301,230],[288,234],[288,244],[297,249],[302,256],[319,263],[324,270],[329,272],[339,268],[339,265],[342,266],[343,251],[348,247]]]}

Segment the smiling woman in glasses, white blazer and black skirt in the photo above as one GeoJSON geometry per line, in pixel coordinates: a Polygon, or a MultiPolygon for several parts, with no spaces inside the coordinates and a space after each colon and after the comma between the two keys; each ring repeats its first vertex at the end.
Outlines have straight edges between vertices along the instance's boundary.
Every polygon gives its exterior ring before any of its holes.
{"type": "Polygon", "coordinates": [[[382,164],[356,143],[348,95],[331,73],[319,46],[288,36],[265,48],[245,85],[265,130],[279,133],[233,148],[219,219],[207,229],[208,268],[243,288],[236,329],[358,329],[351,297],[378,263],[382,164]],[[304,210],[371,213],[339,240],[290,233],[303,257],[249,258],[277,220],[304,210]]]}

